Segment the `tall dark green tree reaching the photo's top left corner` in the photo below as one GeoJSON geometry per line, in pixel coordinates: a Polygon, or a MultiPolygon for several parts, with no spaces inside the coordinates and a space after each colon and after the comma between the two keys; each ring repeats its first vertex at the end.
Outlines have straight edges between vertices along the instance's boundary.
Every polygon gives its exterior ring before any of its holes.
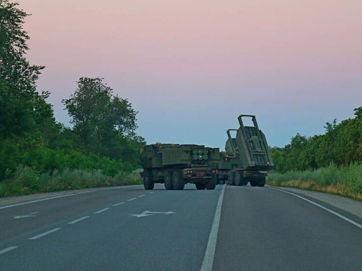
{"type": "MultiPolygon", "coordinates": [[[[29,49],[23,23],[29,14],[17,3],[0,0],[0,135],[26,133],[44,124],[54,126],[47,91],[36,91],[36,80],[44,66],[31,65],[24,57],[29,49]],[[41,115],[40,121],[37,116],[41,115]]],[[[48,126],[47,126],[48,128],[48,126]]]]}

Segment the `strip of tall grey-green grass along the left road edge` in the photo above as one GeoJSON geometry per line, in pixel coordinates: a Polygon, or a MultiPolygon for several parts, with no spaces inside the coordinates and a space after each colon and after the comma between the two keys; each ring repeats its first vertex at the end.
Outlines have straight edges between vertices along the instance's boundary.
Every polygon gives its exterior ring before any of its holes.
{"type": "Polygon", "coordinates": [[[0,182],[0,197],[142,183],[139,170],[131,174],[119,172],[114,177],[104,175],[101,170],[69,168],[62,172],[54,170],[51,174],[39,175],[31,167],[20,165],[14,174],[7,172],[6,176],[10,175],[0,182]]]}

